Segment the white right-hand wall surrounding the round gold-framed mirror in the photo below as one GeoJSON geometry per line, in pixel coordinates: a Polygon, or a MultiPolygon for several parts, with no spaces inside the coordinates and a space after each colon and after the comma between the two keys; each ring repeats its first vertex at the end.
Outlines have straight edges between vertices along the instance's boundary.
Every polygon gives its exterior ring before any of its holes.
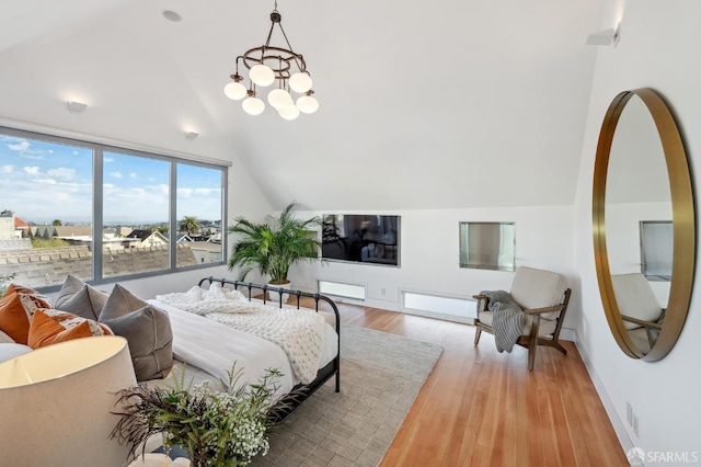
{"type": "MultiPolygon", "coordinates": [[[[613,422],[624,426],[630,440],[624,448],[639,446],[646,452],[693,452],[701,458],[699,385],[701,372],[701,295],[694,294],[685,329],[677,345],[660,362],[646,363],[627,357],[609,332],[594,264],[591,232],[591,179],[597,138],[610,101],[623,90],[650,87],[673,107],[682,132],[698,187],[701,174],[701,2],[694,0],[609,0],[601,29],[621,21],[621,41],[600,47],[575,205],[575,269],[582,277],[581,322],[577,332],[582,348],[602,384],[601,395],[610,399],[613,422]],[[640,421],[640,436],[625,421],[630,401],[640,421]],[[616,420],[618,417],[620,420],[616,420]]],[[[697,205],[698,205],[697,194],[697,205]]],[[[697,217],[699,216],[697,209],[697,217]]],[[[699,274],[696,280],[699,291],[699,274]]],[[[646,463],[646,465],[657,465],[646,463]]],[[[678,464],[667,464],[678,465],[678,464]]]]}

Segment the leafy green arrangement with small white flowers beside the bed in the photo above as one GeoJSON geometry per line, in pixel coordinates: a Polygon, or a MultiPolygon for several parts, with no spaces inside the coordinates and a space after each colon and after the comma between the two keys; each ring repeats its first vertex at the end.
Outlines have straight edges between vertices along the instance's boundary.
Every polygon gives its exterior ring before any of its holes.
{"type": "Polygon", "coordinates": [[[268,369],[258,384],[239,385],[241,371],[235,365],[221,380],[223,391],[215,391],[209,381],[184,384],[184,374],[172,388],[138,385],[122,391],[124,411],[112,432],[129,446],[136,458],[139,446],[152,435],[163,435],[165,449],[181,446],[189,454],[193,467],[245,466],[268,449],[268,435],[275,425],[276,409],[287,402],[276,397],[281,376],[268,369]]]}

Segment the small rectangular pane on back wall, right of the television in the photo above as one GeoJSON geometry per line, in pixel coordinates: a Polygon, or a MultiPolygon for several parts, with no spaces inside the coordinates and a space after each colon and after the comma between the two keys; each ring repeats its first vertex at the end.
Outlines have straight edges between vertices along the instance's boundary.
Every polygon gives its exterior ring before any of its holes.
{"type": "Polygon", "coordinates": [[[460,267],[516,271],[516,224],[460,223],[460,267]]]}

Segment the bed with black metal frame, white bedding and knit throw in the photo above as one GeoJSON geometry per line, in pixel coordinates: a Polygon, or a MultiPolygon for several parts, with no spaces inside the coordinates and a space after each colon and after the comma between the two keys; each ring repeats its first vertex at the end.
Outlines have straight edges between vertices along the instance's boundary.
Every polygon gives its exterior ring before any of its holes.
{"type": "MultiPolygon", "coordinates": [[[[172,384],[173,378],[183,375],[185,381],[226,380],[227,372],[234,362],[235,368],[242,371],[239,383],[255,384],[266,369],[277,368],[284,375],[277,381],[279,395],[296,395],[290,407],[276,414],[279,418],[287,415],[331,378],[335,378],[335,391],[341,390],[341,318],[335,303],[324,295],[210,276],[200,280],[197,287],[187,293],[159,295],[148,301],[168,311],[170,316],[174,358],[170,375],[165,379],[151,380],[149,384],[172,384]],[[268,300],[267,292],[280,292],[279,298],[268,300]],[[197,294],[209,294],[209,297],[217,298],[199,300],[202,297],[197,294]],[[199,301],[193,304],[193,295],[197,295],[199,301]],[[255,298],[257,296],[263,298],[255,298]],[[314,308],[301,307],[302,297],[311,298],[314,308]],[[320,303],[329,310],[320,309],[320,303]],[[280,315],[279,309],[288,312],[280,315]],[[264,319],[268,317],[268,320],[275,321],[295,320],[299,315],[302,319],[314,322],[313,335],[309,339],[306,335],[290,339],[280,334],[273,335],[271,340],[268,334],[277,334],[277,331],[261,332],[257,324],[251,331],[246,328],[251,324],[230,322],[238,318],[248,320],[249,311],[255,311],[264,319]],[[321,338],[321,342],[315,342],[317,337],[321,338]],[[318,357],[315,354],[308,355],[311,353],[306,346],[308,341],[314,341],[309,348],[320,348],[318,357]],[[297,351],[302,357],[290,353],[289,348],[294,351],[298,346],[302,348],[301,351],[297,351]],[[314,362],[315,372],[311,372],[309,361],[314,362]]],[[[302,330],[300,334],[303,332],[312,331],[302,330]]]]}

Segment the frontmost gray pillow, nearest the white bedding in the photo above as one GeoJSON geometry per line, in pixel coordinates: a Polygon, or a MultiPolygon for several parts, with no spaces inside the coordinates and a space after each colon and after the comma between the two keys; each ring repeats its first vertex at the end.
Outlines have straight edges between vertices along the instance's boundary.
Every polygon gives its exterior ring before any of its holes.
{"type": "Polygon", "coordinates": [[[164,378],[173,367],[173,330],[168,314],[150,305],[100,322],[126,338],[138,381],[164,378]]]}

